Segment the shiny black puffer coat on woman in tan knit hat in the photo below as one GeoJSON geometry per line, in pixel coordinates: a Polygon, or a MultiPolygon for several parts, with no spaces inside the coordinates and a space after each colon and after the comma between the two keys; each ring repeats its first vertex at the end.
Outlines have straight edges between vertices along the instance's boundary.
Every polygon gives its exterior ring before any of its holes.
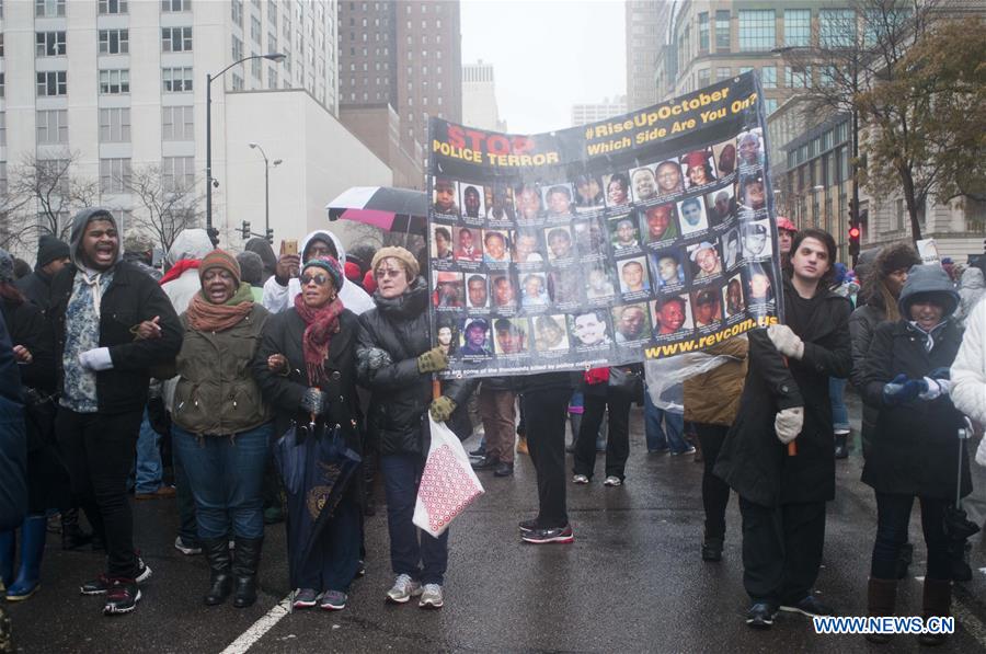
{"type": "MultiPolygon", "coordinates": [[[[367,432],[381,455],[428,451],[432,375],[417,371],[417,357],[432,348],[428,298],[428,288],[419,277],[398,298],[375,294],[377,308],[359,317],[359,382],[372,393],[367,432]]],[[[465,411],[475,385],[475,380],[446,380],[442,392],[458,405],[457,411],[465,411]]]]}

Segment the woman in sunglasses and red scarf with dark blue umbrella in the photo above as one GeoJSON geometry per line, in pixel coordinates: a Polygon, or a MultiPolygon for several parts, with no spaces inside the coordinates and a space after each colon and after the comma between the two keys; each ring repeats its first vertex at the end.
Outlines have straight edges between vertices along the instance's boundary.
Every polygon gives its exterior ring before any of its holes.
{"type": "MultiPolygon", "coordinates": [[[[358,323],[339,297],[344,283],[342,266],[328,254],[317,256],[305,262],[299,280],[301,292],[295,297],[294,307],[267,322],[253,364],[264,399],[276,412],[275,434],[284,434],[294,421],[301,426],[314,423],[317,433],[324,437],[328,431],[318,432],[324,425],[339,428],[345,446],[360,454],[354,420],[359,415],[355,358],[358,323]]],[[[357,470],[353,477],[360,474],[357,470]]],[[[314,520],[323,508],[319,505],[325,500],[324,490],[302,487],[302,493],[289,494],[288,516],[307,512],[314,520]]],[[[359,565],[358,497],[357,484],[349,483],[310,544],[288,531],[289,560],[305,557],[291,570],[296,609],[316,605],[325,610],[345,608],[359,565]]]]}

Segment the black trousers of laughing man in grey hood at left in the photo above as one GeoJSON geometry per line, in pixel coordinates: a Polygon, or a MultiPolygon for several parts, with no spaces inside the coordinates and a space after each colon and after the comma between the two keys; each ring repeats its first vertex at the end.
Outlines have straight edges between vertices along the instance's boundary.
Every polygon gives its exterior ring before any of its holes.
{"type": "Polygon", "coordinates": [[[134,515],[127,498],[127,481],[137,454],[142,411],[103,415],[76,413],[59,408],[55,422],[65,454],[72,492],[93,520],[93,529],[106,543],[107,574],[137,576],[134,550],[134,515]]]}

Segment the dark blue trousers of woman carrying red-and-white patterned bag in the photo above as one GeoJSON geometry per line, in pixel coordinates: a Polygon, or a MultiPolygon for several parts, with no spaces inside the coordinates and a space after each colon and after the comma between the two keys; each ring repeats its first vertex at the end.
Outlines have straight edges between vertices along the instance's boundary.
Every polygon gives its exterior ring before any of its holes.
{"type": "Polygon", "coordinates": [[[442,585],[448,567],[448,529],[435,538],[412,521],[424,459],[420,455],[382,455],[380,472],[387,494],[390,564],[394,574],[442,585]],[[419,540],[420,539],[420,540],[419,540]]]}

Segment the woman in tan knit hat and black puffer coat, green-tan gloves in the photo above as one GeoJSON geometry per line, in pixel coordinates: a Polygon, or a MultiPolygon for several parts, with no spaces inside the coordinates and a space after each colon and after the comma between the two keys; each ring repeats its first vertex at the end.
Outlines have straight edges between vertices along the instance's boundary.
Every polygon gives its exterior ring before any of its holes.
{"type": "Polygon", "coordinates": [[[432,374],[448,367],[448,355],[431,346],[428,285],[419,275],[417,260],[403,248],[382,248],[370,267],[379,287],[376,309],[359,317],[356,366],[360,385],[371,393],[367,429],[380,455],[387,493],[390,562],[397,575],[387,600],[404,604],[420,596],[420,607],[437,609],[444,601],[448,530],[434,538],[419,533],[412,521],[429,445],[425,412],[435,421],[449,421],[457,406],[466,406],[475,381],[446,381],[443,395],[432,400],[432,374]]]}

